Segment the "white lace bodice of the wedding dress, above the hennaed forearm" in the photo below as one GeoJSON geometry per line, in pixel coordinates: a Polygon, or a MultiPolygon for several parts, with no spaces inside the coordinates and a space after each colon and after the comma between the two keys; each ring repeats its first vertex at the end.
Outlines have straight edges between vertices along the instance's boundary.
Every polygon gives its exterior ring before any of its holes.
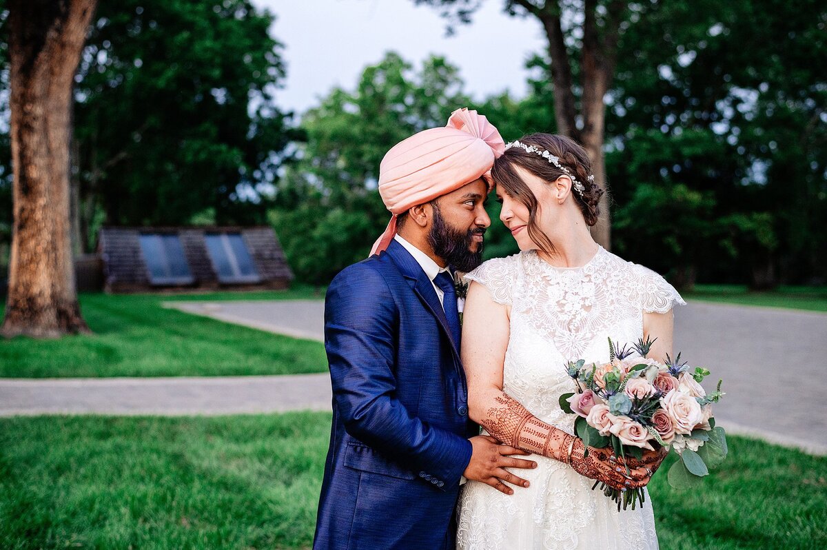
{"type": "Polygon", "coordinates": [[[560,395],[573,390],[566,361],[609,361],[609,337],[637,342],[644,312],[667,313],[685,304],[661,275],[603,247],[581,267],[554,267],[536,251],[525,251],[486,261],[466,279],[510,306],[505,393],[569,433],[573,417],[558,404],[560,395]]]}

